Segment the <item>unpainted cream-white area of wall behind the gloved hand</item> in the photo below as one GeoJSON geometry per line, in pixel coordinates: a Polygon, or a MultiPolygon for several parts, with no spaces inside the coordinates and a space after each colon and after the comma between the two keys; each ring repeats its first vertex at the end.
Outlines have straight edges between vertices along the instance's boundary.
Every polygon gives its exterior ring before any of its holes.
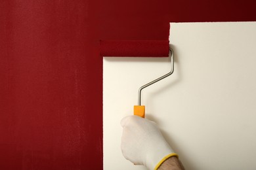
{"type": "MultiPolygon", "coordinates": [[[[256,22],[171,23],[175,72],[142,91],[146,118],[188,170],[256,169],[256,22]]],[[[104,58],[104,169],[145,169],[121,154],[121,118],[167,58],[104,58]]]]}

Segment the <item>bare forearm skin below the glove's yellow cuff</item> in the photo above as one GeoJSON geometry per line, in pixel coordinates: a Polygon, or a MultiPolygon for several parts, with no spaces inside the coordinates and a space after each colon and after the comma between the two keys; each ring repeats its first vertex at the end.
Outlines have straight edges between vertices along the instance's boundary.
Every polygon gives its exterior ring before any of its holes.
{"type": "Polygon", "coordinates": [[[176,156],[172,156],[163,161],[158,170],[184,170],[184,167],[176,156]]]}

